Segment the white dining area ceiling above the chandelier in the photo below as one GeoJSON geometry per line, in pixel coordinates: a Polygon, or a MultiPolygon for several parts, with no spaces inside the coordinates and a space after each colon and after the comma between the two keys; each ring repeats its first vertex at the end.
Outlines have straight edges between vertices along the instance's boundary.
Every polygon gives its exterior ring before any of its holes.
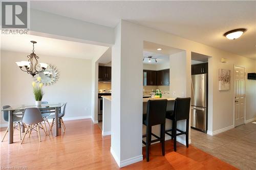
{"type": "Polygon", "coordinates": [[[36,41],[35,54],[92,59],[100,57],[109,47],[74,41],[66,41],[34,35],[1,35],[1,50],[28,53],[32,51],[31,40],[36,41]]]}

